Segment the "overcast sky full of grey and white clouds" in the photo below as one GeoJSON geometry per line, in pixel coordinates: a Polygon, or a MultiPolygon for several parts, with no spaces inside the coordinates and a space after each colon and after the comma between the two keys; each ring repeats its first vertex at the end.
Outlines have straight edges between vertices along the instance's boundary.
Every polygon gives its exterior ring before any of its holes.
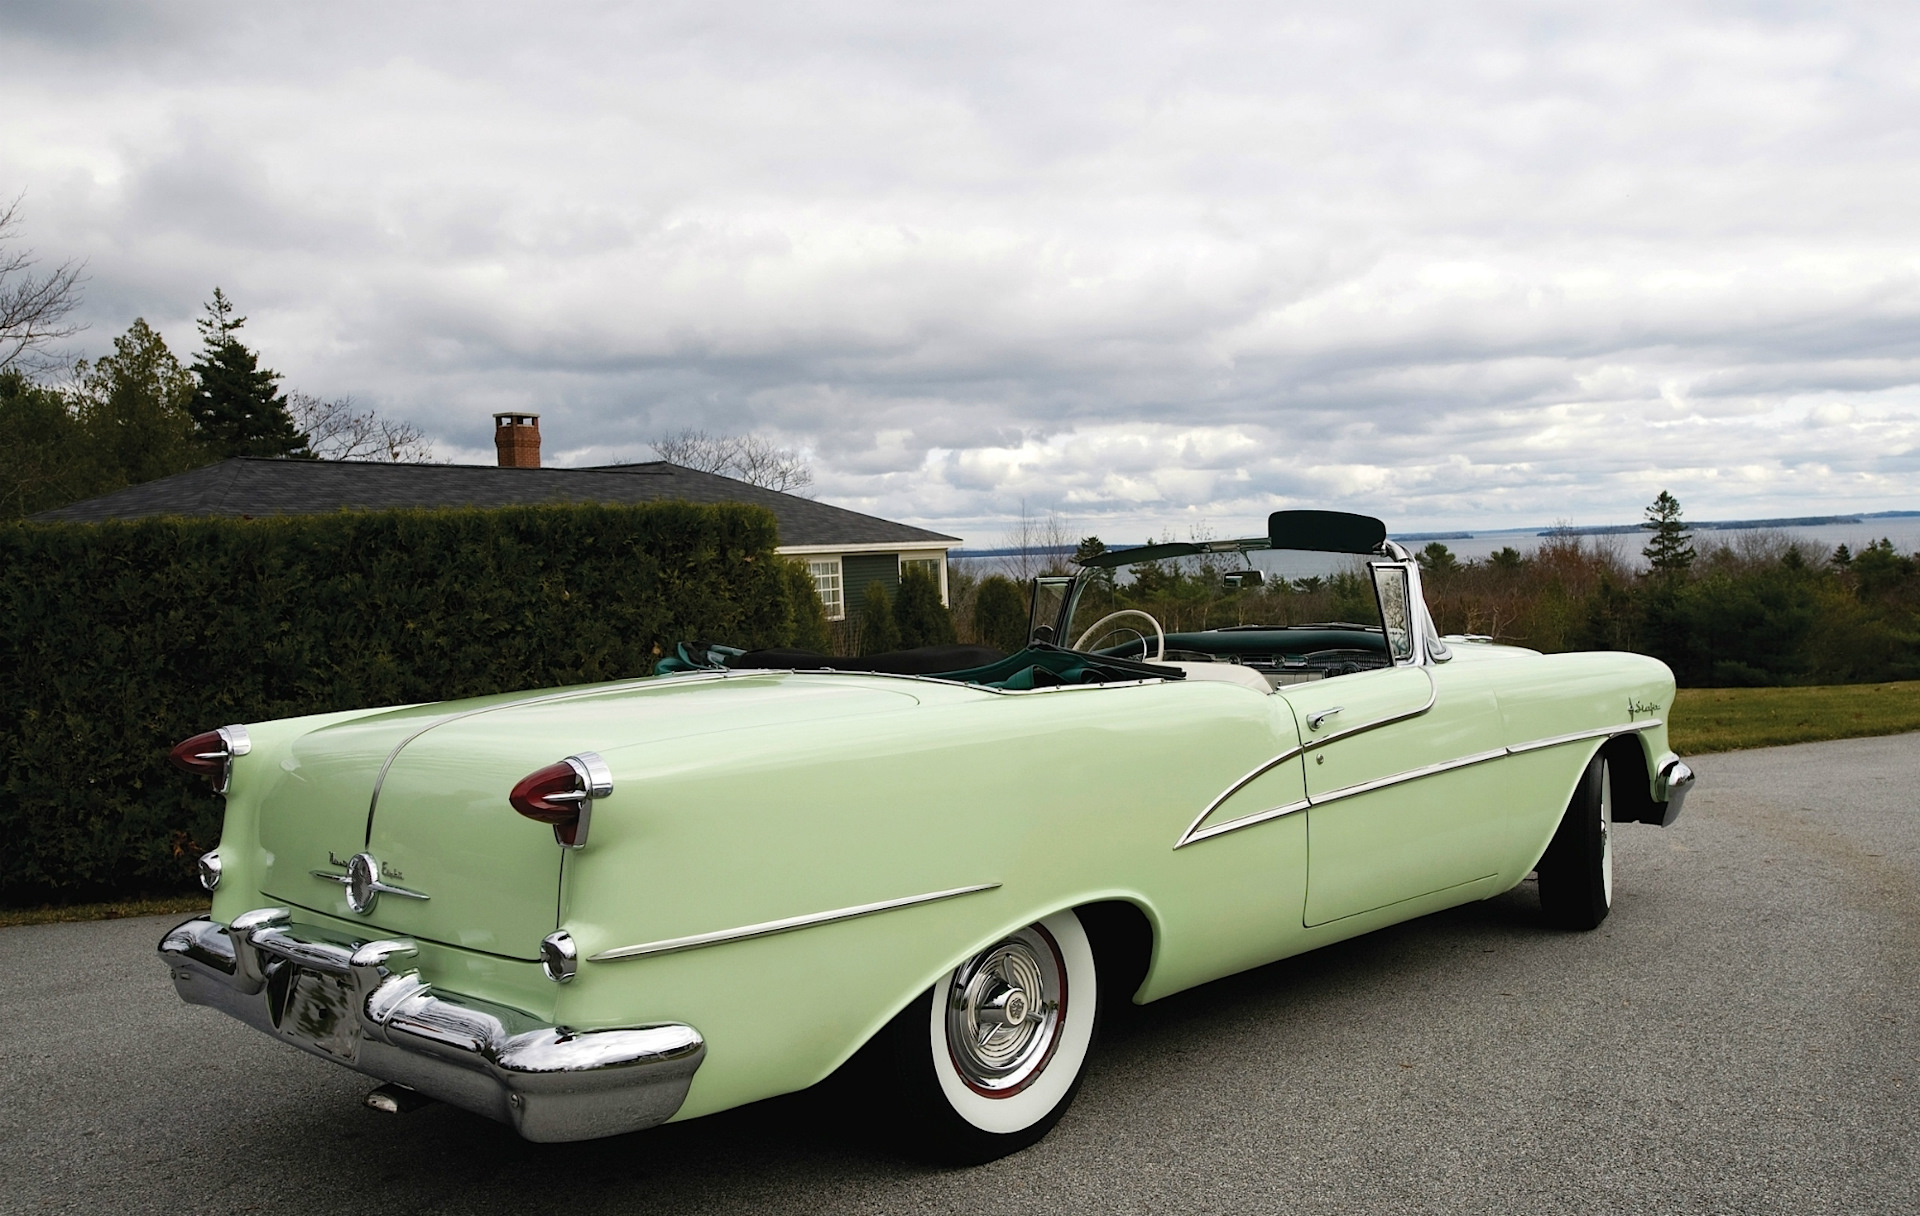
{"type": "Polygon", "coordinates": [[[1920,8],[0,2],[75,353],[993,544],[1920,509],[1920,8]]]}

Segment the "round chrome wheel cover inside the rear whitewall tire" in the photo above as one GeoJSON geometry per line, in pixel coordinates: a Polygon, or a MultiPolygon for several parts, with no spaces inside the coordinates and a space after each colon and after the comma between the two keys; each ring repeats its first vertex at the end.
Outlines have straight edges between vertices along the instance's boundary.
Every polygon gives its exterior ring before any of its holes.
{"type": "Polygon", "coordinates": [[[1033,924],[973,955],[947,985],[947,1053],[968,1089],[1020,1093],[1046,1066],[1068,1009],[1068,968],[1033,924]]]}

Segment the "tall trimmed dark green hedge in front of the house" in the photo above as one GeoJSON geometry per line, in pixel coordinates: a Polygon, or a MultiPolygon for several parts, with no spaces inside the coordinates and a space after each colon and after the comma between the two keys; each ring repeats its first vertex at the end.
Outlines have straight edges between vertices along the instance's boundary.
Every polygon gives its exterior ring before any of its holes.
{"type": "Polygon", "coordinates": [[[182,889],[225,722],[645,674],[682,638],[822,632],[758,507],[0,524],[0,903],[182,889]]]}

